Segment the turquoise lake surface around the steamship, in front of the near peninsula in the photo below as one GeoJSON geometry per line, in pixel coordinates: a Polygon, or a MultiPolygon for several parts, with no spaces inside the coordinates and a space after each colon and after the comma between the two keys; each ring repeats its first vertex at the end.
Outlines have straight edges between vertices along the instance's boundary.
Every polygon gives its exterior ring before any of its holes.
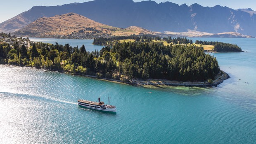
{"type": "Polygon", "coordinates": [[[143,88],[0,65],[0,143],[252,144],[256,142],[256,39],[211,53],[230,75],[217,87],[143,88]],[[100,97],[116,114],[79,107],[100,97]]]}

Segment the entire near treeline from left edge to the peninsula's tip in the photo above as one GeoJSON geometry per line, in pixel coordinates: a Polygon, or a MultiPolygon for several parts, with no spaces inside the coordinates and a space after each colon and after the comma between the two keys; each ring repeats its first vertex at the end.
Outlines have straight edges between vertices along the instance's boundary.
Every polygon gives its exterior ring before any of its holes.
{"type": "MultiPolygon", "coordinates": [[[[30,49],[0,45],[0,59],[16,65],[64,70],[69,73],[96,75],[111,79],[168,79],[204,81],[219,72],[216,58],[197,46],[164,46],[154,42],[116,43],[99,51],[86,51],[85,46],[37,43],[30,49]],[[7,57],[9,56],[9,58],[7,57]]],[[[2,61],[2,60],[1,60],[2,61]]]]}

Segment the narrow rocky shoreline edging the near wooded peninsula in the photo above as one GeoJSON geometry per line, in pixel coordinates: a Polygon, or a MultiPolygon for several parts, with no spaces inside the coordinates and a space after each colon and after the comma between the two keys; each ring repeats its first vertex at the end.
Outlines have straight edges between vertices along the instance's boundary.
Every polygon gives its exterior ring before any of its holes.
{"type": "MultiPolygon", "coordinates": [[[[3,65],[3,64],[1,64],[3,65]]],[[[12,67],[21,67],[18,65],[11,65],[12,67]]],[[[8,65],[5,65],[5,67],[8,67],[8,65]]],[[[30,67],[30,68],[34,68],[34,67],[30,67]]],[[[62,73],[66,73],[64,70],[48,70],[48,69],[43,69],[43,68],[39,68],[38,70],[46,70],[46,71],[57,71],[57,72],[62,72],[62,73]]],[[[99,79],[99,80],[103,80],[103,81],[109,81],[109,82],[114,82],[114,83],[119,83],[119,84],[128,84],[128,85],[134,85],[134,86],[199,86],[199,87],[209,87],[209,86],[218,86],[218,84],[221,84],[224,80],[230,78],[229,75],[220,70],[220,73],[216,76],[216,78],[211,82],[207,82],[207,81],[170,81],[170,80],[166,80],[166,79],[148,79],[148,80],[136,80],[136,79],[132,79],[130,82],[126,82],[126,81],[121,81],[121,80],[116,80],[116,79],[108,79],[108,78],[101,78],[101,77],[97,77],[94,75],[88,75],[88,74],[69,74],[69,75],[78,75],[78,76],[82,76],[82,77],[89,77],[89,78],[93,78],[93,79],[99,79]],[[221,75],[220,75],[221,74],[221,75]]]]}

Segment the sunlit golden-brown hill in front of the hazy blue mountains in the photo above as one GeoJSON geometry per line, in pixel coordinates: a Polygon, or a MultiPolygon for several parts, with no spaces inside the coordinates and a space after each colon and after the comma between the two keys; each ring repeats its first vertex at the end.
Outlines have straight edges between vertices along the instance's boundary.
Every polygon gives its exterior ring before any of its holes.
{"type": "Polygon", "coordinates": [[[77,39],[106,37],[108,35],[156,35],[152,31],[136,26],[125,29],[108,26],[75,13],[37,19],[14,34],[23,37],[64,37],[77,39]]]}

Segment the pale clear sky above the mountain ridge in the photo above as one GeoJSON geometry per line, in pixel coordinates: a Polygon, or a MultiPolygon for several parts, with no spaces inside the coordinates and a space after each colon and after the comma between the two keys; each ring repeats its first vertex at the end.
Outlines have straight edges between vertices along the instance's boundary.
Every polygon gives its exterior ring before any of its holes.
{"type": "MultiPolygon", "coordinates": [[[[0,23],[8,19],[17,16],[18,14],[25,12],[33,6],[55,6],[64,5],[74,2],[88,2],[92,0],[1,0],[0,10],[0,23]]],[[[134,2],[140,2],[142,0],[133,0],[134,2]]],[[[232,9],[239,8],[251,8],[256,10],[256,0],[154,0],[157,3],[160,2],[173,2],[178,5],[187,4],[188,6],[198,3],[204,7],[214,7],[215,5],[227,6],[232,9]]]]}

